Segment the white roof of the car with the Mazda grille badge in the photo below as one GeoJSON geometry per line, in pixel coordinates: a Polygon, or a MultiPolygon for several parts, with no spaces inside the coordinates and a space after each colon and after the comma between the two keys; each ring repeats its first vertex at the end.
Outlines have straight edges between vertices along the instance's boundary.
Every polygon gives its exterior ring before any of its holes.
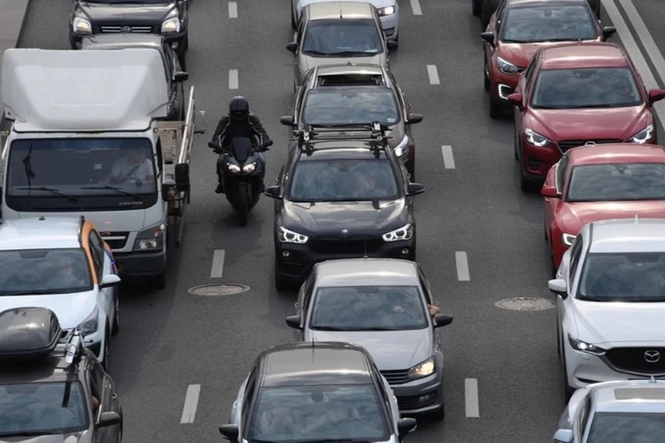
{"type": "Polygon", "coordinates": [[[665,219],[594,221],[590,253],[665,253],[665,219]]]}

